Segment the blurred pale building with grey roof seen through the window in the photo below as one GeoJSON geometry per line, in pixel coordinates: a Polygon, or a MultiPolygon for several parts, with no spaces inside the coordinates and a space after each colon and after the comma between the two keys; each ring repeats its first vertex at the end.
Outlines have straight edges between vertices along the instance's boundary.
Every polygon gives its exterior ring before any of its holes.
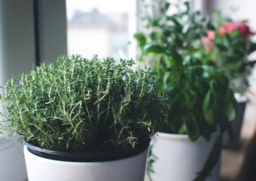
{"type": "Polygon", "coordinates": [[[68,22],[68,54],[84,57],[127,56],[129,34],[128,14],[102,14],[98,9],[90,12],[75,11],[68,22]]]}

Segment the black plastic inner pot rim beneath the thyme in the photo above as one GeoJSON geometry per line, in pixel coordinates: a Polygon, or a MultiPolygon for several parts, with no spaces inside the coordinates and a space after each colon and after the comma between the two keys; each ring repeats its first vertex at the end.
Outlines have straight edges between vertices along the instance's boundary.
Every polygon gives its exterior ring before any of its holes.
{"type": "Polygon", "coordinates": [[[24,141],[24,144],[28,147],[28,150],[40,156],[42,158],[48,158],[51,160],[60,160],[67,162],[106,162],[112,160],[120,160],[123,158],[129,158],[140,154],[141,152],[148,149],[150,143],[143,143],[135,149],[130,149],[129,151],[119,150],[115,152],[97,152],[97,153],[88,153],[88,152],[58,152],[49,149],[42,149],[36,145],[32,145],[24,141]]]}

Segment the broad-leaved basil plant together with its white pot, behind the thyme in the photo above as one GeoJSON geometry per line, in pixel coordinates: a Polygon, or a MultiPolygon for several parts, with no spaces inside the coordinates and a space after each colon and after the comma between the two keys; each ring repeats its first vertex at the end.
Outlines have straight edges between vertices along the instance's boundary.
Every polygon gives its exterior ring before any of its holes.
{"type": "Polygon", "coordinates": [[[152,180],[219,180],[222,133],[232,135],[236,100],[228,78],[200,58],[205,19],[185,10],[146,16],[135,34],[141,61],[152,66],[170,97],[167,119],[154,137],[152,180]]]}

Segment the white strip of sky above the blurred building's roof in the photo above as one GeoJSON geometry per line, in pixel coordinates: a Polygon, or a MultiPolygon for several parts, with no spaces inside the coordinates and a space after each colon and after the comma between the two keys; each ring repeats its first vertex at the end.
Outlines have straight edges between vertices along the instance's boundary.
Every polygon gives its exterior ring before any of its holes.
{"type": "Polygon", "coordinates": [[[97,8],[102,13],[134,13],[136,0],[67,0],[67,19],[75,10],[90,11],[97,8]]]}

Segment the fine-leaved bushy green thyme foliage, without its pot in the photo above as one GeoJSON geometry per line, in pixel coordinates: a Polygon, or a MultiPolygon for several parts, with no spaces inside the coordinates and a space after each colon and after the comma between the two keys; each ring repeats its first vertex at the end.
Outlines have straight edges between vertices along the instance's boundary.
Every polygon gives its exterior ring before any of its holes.
{"type": "Polygon", "coordinates": [[[162,119],[158,83],[133,60],[62,56],[13,77],[1,98],[2,129],[45,149],[129,151],[149,143],[162,119]]]}

